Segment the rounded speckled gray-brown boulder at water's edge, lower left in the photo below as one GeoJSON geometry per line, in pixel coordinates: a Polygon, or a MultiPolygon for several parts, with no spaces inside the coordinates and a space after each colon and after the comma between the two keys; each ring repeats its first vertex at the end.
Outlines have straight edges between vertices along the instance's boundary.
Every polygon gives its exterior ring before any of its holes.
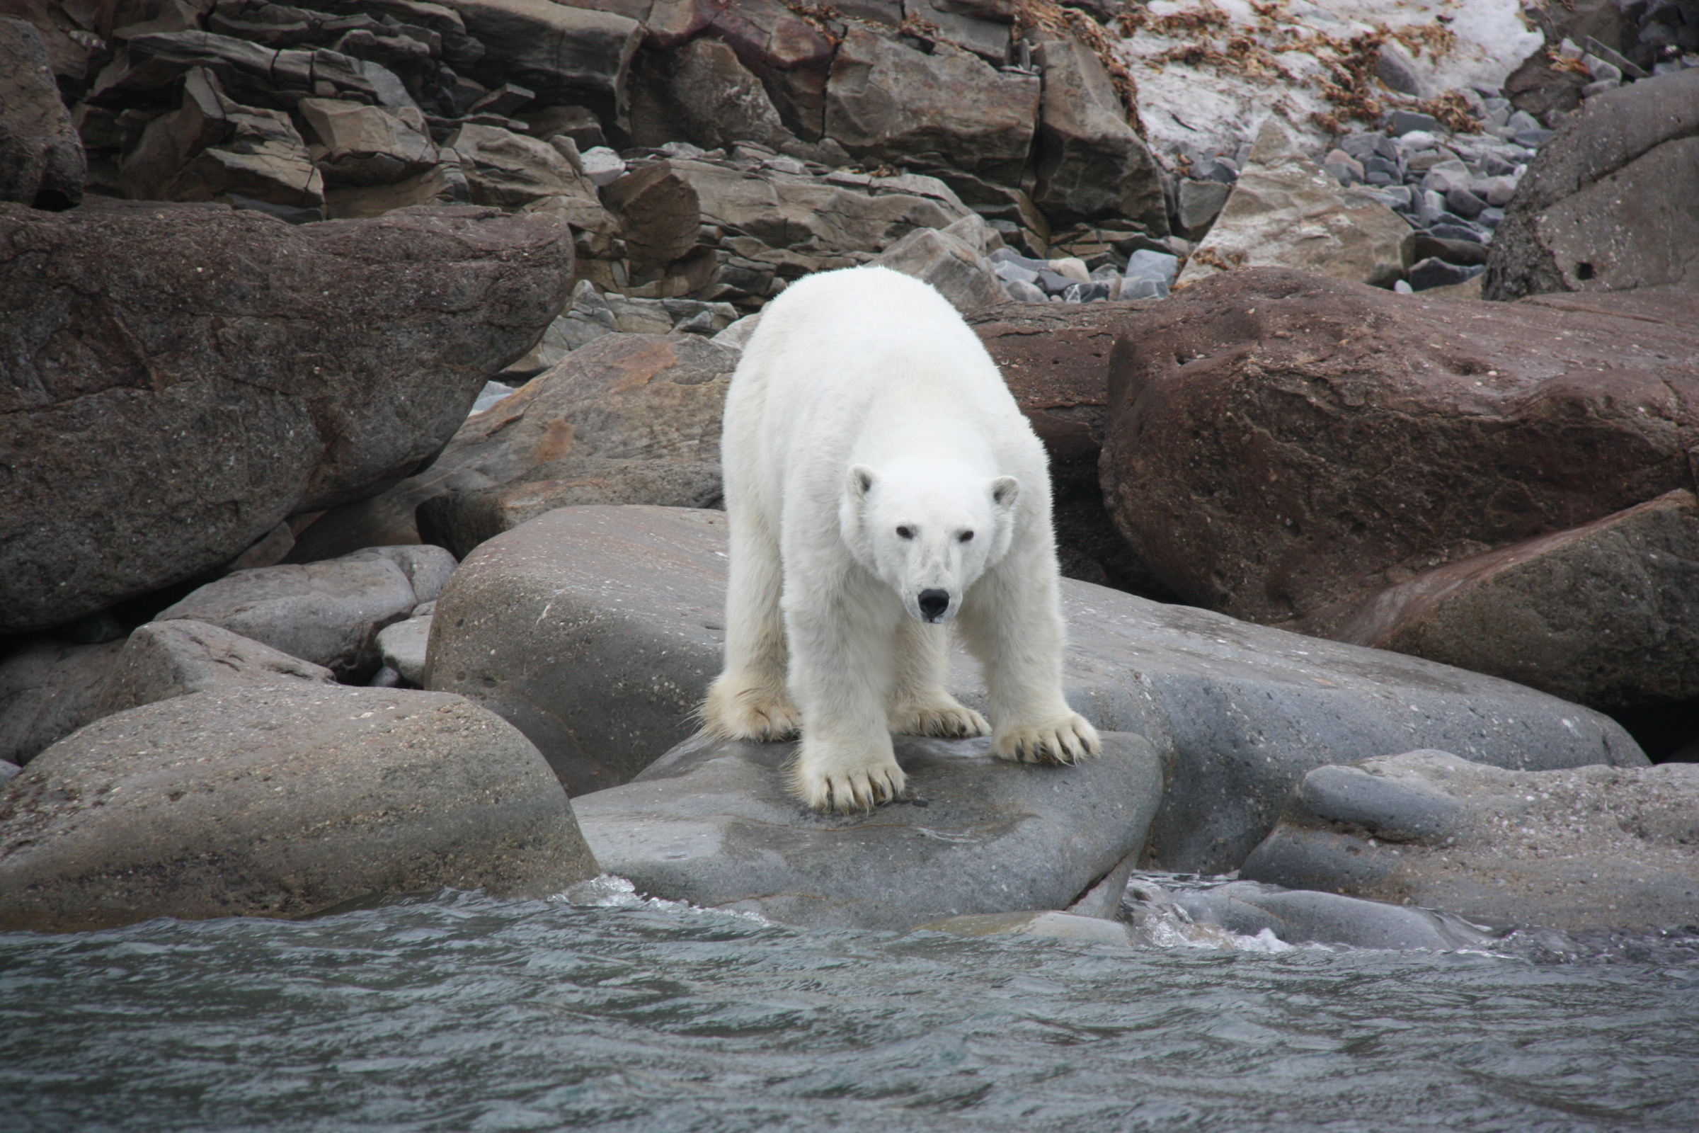
{"type": "Polygon", "coordinates": [[[0,927],[547,897],[598,873],[537,749],[459,696],[202,691],[110,715],[0,790],[0,927]]]}

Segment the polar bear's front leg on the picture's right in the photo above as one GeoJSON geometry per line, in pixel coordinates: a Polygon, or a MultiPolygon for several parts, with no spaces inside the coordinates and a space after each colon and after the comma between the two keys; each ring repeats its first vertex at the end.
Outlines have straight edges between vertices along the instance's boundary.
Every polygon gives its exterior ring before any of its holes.
{"type": "MultiPolygon", "coordinates": [[[[1038,557],[1035,554],[1035,557],[1038,557]]],[[[1009,555],[1014,559],[1014,555],[1009,555]]],[[[1062,695],[1064,625],[1055,583],[1009,559],[987,571],[962,605],[962,635],[985,666],[991,754],[1021,763],[1079,763],[1099,751],[1098,729],[1062,695]]]]}

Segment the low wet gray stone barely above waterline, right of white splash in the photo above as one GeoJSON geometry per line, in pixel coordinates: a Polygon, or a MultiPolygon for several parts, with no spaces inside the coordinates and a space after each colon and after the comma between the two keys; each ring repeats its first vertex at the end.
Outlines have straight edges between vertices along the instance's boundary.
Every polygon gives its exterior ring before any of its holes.
{"type": "Polygon", "coordinates": [[[1288,944],[1453,951],[1482,948],[1492,939],[1461,917],[1427,909],[1407,909],[1339,893],[1288,890],[1257,882],[1176,890],[1174,904],[1201,924],[1218,924],[1239,936],[1269,931],[1288,944]]]}

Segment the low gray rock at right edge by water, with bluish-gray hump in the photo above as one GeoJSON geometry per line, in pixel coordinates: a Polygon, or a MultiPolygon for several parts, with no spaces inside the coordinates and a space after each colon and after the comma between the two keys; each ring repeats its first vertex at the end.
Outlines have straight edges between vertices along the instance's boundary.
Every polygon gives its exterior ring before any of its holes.
{"type": "Polygon", "coordinates": [[[1408,751],[1324,768],[1240,877],[1495,926],[1691,926],[1699,766],[1507,771],[1408,751]]]}

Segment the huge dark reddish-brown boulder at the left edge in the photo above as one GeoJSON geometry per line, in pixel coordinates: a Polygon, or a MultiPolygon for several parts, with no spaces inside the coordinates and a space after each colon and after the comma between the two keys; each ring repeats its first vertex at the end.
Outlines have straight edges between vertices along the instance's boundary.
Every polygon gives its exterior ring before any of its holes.
{"type": "Polygon", "coordinates": [[[0,632],[234,559],[430,460],[566,302],[545,217],[0,206],[0,632]]]}

